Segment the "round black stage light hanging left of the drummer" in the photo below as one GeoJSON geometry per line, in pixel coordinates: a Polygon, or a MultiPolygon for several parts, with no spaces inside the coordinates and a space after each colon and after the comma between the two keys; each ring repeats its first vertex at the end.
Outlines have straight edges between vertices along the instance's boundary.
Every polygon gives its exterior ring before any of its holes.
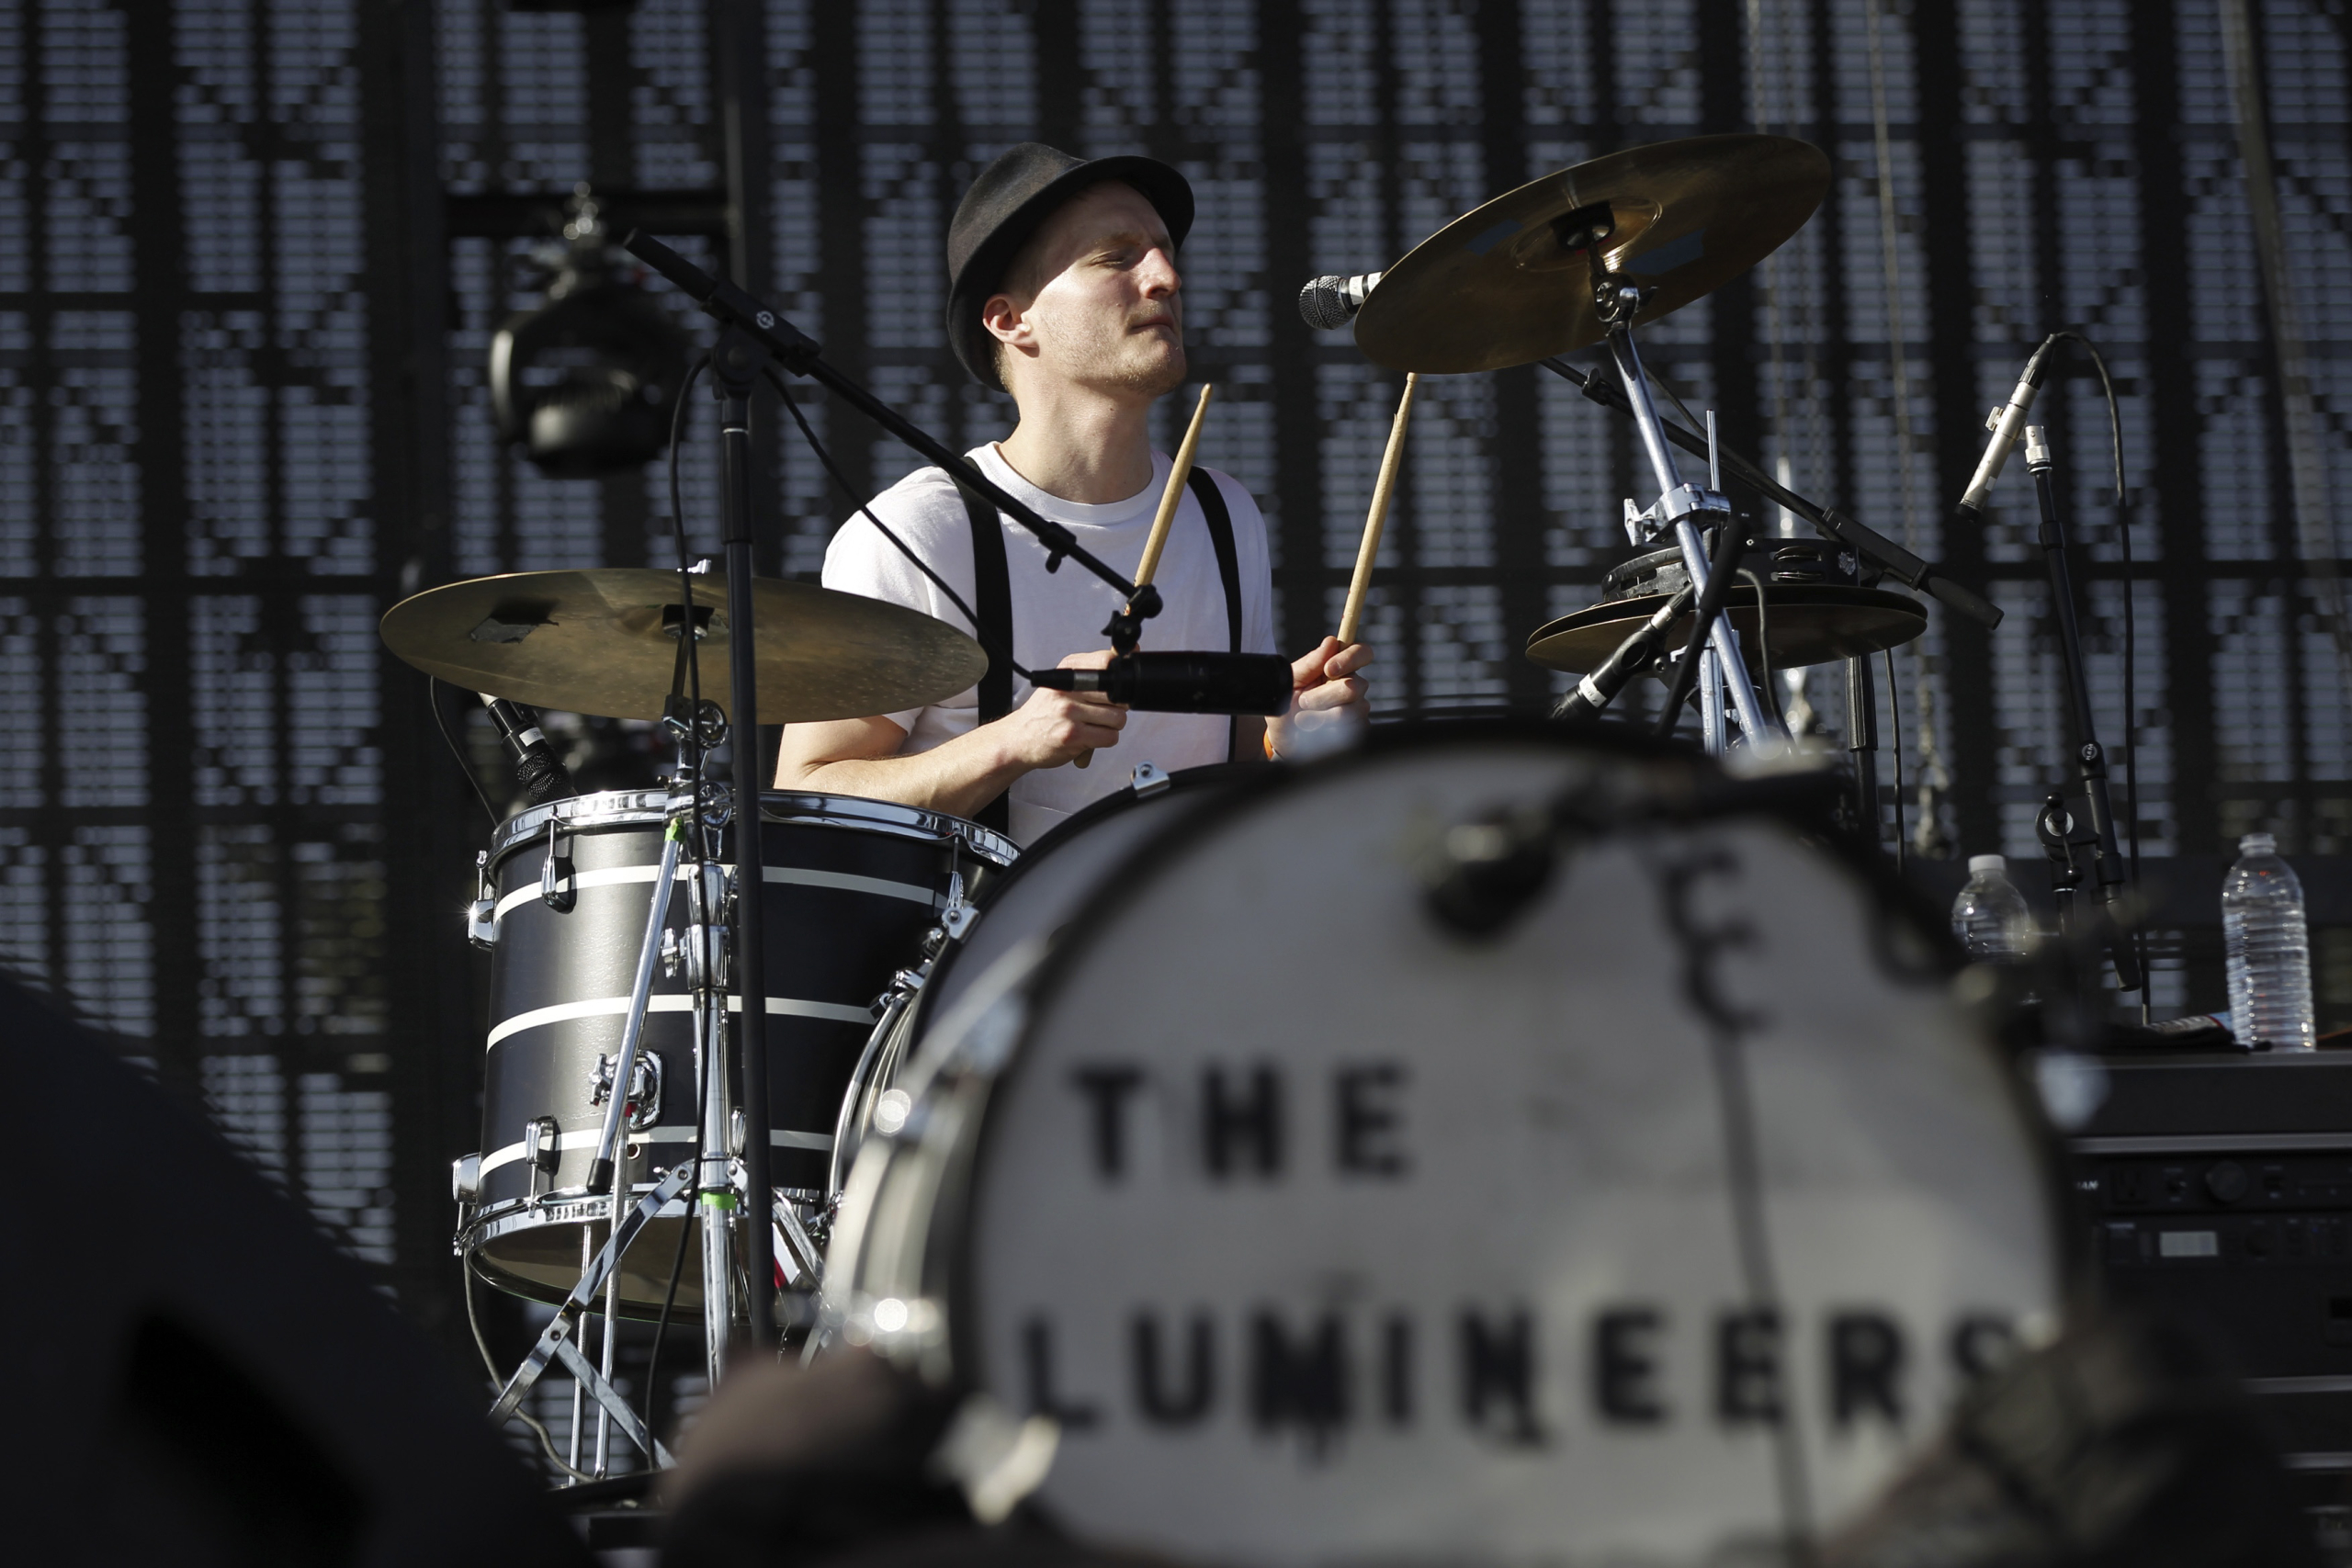
{"type": "Polygon", "coordinates": [[[557,480],[649,463],[670,440],[684,329],[630,282],[635,263],[607,244],[586,186],[572,200],[564,242],[536,259],[550,275],[548,303],[510,317],[489,343],[499,435],[557,480]]]}

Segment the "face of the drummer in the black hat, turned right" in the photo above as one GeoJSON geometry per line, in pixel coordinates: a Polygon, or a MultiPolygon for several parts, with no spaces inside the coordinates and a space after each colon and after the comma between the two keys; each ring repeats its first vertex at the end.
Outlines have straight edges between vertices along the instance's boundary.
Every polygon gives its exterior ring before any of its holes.
{"type": "Polygon", "coordinates": [[[1065,202],[1007,270],[981,320],[1004,343],[1014,397],[1061,381],[1152,400],[1183,386],[1183,301],[1167,223],[1134,186],[1065,202]]]}

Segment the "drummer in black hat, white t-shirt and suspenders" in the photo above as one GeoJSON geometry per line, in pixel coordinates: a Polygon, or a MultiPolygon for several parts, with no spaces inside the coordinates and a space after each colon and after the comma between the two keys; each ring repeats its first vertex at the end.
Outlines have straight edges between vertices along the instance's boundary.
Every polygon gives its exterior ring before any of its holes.
{"type": "MultiPolygon", "coordinates": [[[[1190,226],[1192,188],[1169,165],[1030,141],[981,172],[948,228],[948,339],[974,378],[1018,407],[1014,433],[969,456],[1122,576],[1143,559],[1171,468],[1145,421],[1185,381],[1176,244],[1190,226]]],[[[997,630],[1023,665],[1110,658],[1103,623],[1117,602],[1103,583],[1049,574],[1044,548],[985,501],[967,503],[946,470],[910,473],[870,510],[981,618],[990,604],[1009,611],[997,630]],[[990,583],[997,595],[983,592],[990,583]]],[[[833,536],[823,583],[971,630],[863,515],[833,536]]],[[[1145,649],[1275,651],[1265,520],[1230,475],[1192,470],[1152,583],[1167,609],[1143,625],[1145,649]]],[[[1364,712],[1367,663],[1369,646],[1324,637],[1291,663],[1291,708],[1272,719],[1129,712],[1101,693],[997,677],[929,708],[788,724],[776,788],[927,806],[1030,844],[1124,785],[1129,762],[1174,771],[1289,755],[1298,715],[1364,712]],[[1105,757],[1084,766],[1094,752],[1105,757]]]]}

